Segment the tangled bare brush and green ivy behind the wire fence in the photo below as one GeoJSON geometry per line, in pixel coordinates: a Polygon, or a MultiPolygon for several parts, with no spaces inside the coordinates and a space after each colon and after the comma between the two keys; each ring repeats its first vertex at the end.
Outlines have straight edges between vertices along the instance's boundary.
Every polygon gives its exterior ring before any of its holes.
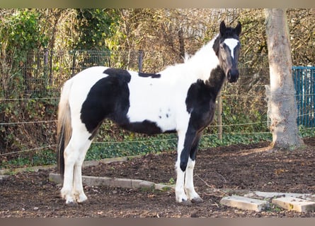
{"type": "MultiPolygon", "coordinates": [[[[315,10],[289,9],[287,18],[293,65],[314,66],[315,10]]],[[[194,54],[211,40],[221,20],[231,25],[239,20],[243,26],[239,65],[242,76],[236,85],[222,90],[223,123],[246,125],[224,127],[223,140],[205,136],[201,148],[258,142],[270,136],[266,122],[264,85],[269,83],[269,72],[262,9],[0,9],[1,164],[55,162],[59,89],[81,69],[107,65],[137,71],[138,51],[142,50],[142,71],[160,71],[183,62],[185,53],[194,54]],[[7,153],[11,154],[4,155],[7,153]]],[[[208,127],[206,133],[217,133],[217,127],[208,127]]],[[[148,139],[121,131],[108,122],[102,126],[92,147],[95,152],[88,158],[175,149],[173,136],[148,139]],[[115,143],[118,141],[137,142],[115,143]]]]}

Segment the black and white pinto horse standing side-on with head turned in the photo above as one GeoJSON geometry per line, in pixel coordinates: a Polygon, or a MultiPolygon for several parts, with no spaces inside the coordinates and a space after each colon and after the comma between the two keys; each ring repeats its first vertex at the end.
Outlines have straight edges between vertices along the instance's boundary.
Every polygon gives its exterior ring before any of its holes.
{"type": "Polygon", "coordinates": [[[239,78],[240,33],[241,23],[229,28],[222,21],[219,34],[193,57],[159,73],[95,66],[66,81],[57,121],[57,162],[66,203],[87,200],[81,166],[104,119],[138,133],[176,132],[176,201],[201,202],[193,185],[197,146],[224,81],[239,78]]]}

